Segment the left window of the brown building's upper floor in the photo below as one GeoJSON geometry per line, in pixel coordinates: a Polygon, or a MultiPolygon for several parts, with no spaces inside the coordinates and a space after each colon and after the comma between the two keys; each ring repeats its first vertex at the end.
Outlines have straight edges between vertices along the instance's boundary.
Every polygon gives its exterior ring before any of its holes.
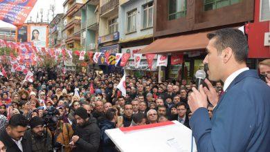
{"type": "Polygon", "coordinates": [[[186,17],[186,0],[169,0],[169,20],[186,17]]]}

